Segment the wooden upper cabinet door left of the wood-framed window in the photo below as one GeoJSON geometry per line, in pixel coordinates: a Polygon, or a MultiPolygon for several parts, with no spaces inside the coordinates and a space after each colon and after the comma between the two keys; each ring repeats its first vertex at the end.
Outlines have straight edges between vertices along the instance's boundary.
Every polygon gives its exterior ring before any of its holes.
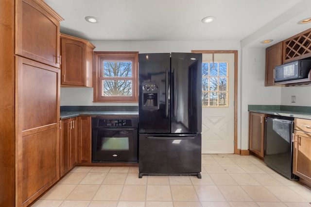
{"type": "Polygon", "coordinates": [[[86,44],[61,38],[61,85],[86,85],[86,44]]]}

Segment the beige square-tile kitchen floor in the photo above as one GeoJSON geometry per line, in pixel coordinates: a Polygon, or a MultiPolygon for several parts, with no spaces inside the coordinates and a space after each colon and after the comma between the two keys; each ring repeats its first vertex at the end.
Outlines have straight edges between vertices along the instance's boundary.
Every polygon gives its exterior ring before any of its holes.
{"type": "Polygon", "coordinates": [[[311,190],[255,156],[202,155],[202,179],[76,167],[33,207],[311,207],[311,190]]]}

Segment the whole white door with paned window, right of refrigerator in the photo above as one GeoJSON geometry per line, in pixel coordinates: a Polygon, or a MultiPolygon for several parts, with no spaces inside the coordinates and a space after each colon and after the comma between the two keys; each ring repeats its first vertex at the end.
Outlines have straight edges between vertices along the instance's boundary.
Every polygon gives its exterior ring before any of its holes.
{"type": "Polygon", "coordinates": [[[233,154],[234,53],[204,53],[202,73],[202,154],[233,154]]]}

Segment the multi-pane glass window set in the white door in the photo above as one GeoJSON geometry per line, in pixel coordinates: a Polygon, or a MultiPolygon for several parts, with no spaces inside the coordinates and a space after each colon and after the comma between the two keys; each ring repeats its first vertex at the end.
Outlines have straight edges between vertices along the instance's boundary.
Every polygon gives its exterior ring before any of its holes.
{"type": "Polygon", "coordinates": [[[203,107],[228,107],[228,63],[202,63],[203,107]]]}

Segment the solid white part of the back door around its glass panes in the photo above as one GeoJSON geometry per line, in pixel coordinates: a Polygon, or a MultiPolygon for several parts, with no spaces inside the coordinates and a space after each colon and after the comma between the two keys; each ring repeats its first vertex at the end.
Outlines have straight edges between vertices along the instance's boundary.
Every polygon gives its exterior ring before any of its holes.
{"type": "MultiPolygon", "coordinates": [[[[203,62],[212,54],[203,54],[203,62]]],[[[214,61],[228,62],[228,107],[202,108],[202,153],[234,153],[234,53],[215,53],[214,61]]]]}

